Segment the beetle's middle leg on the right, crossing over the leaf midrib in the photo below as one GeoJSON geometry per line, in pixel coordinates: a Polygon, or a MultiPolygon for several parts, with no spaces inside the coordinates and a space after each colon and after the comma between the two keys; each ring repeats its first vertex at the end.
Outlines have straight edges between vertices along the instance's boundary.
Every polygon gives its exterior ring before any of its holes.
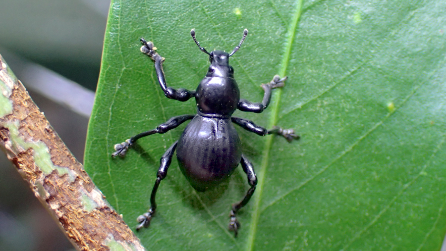
{"type": "Polygon", "coordinates": [[[283,129],[281,127],[275,126],[271,130],[267,130],[264,127],[258,126],[254,124],[251,120],[244,119],[244,118],[237,118],[237,117],[231,117],[232,122],[235,124],[243,127],[243,129],[246,129],[250,132],[256,133],[260,136],[265,136],[268,134],[277,134],[285,138],[288,142],[292,142],[293,140],[300,139],[299,135],[294,134],[293,129],[283,129]]]}

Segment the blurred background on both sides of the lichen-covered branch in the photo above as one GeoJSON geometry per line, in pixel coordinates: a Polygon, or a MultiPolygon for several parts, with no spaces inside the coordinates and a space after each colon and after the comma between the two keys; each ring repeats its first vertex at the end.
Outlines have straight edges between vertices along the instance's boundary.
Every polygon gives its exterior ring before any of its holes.
{"type": "MultiPolygon", "coordinates": [[[[0,54],[83,162],[110,0],[1,0],[0,54]]],[[[0,152],[0,251],[74,251],[0,152]]]]}

